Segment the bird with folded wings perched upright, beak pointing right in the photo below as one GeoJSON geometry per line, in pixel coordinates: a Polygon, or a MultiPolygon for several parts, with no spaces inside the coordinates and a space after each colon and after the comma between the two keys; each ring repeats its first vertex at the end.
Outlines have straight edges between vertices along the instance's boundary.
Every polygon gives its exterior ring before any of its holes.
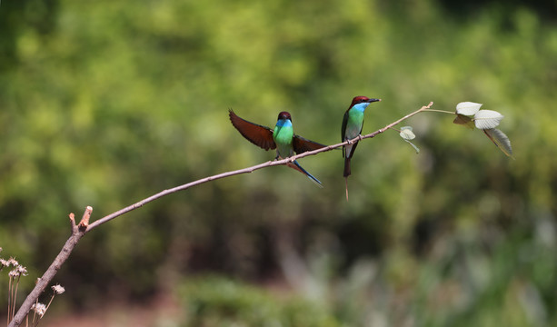
{"type": "MultiPolygon", "coordinates": [[[[356,96],[352,99],[352,104],[344,113],[343,130],[341,139],[343,142],[352,140],[354,137],[362,133],[363,128],[363,112],[365,108],[373,102],[381,101],[381,99],[370,99],[366,96],[356,96]]],[[[353,144],[346,144],[343,146],[344,157],[344,178],[346,179],[346,200],[348,200],[348,176],[350,176],[350,160],[356,150],[358,142],[353,144]]]]}

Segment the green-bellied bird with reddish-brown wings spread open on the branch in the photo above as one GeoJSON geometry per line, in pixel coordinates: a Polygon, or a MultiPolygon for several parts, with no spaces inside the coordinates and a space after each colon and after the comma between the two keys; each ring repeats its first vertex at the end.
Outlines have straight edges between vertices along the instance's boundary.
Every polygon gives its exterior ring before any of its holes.
{"type": "MultiPolygon", "coordinates": [[[[249,142],[265,150],[276,149],[276,159],[287,158],[294,153],[302,154],[306,151],[317,150],[326,146],[294,134],[292,116],[287,112],[281,112],[278,115],[274,130],[267,126],[248,122],[240,118],[237,114],[234,114],[232,109],[229,110],[228,115],[234,127],[249,142]]],[[[305,174],[314,183],[323,187],[322,183],[317,178],[313,177],[311,173],[306,172],[297,161],[294,160],[293,163],[286,163],[286,165],[305,174]]]]}

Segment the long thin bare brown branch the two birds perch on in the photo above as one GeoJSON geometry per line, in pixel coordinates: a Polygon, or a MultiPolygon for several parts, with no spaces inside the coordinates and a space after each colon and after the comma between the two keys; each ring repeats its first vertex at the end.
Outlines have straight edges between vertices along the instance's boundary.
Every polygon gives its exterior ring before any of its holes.
{"type": "Polygon", "coordinates": [[[294,160],[299,159],[299,158],[303,158],[306,156],[310,156],[310,155],[315,155],[315,154],[321,154],[323,152],[327,152],[327,151],[331,151],[333,149],[336,148],[340,148],[343,145],[346,144],[352,144],[353,142],[357,142],[357,141],[361,141],[363,139],[366,138],[372,138],[375,137],[378,134],[382,134],[383,132],[385,132],[386,130],[392,128],[393,126],[400,124],[401,122],[403,122],[404,120],[412,117],[415,114],[419,114],[422,113],[424,111],[429,111],[431,109],[431,106],[433,105],[433,102],[431,102],[428,105],[424,105],[422,108],[416,110],[415,112],[411,113],[411,114],[407,114],[405,116],[403,116],[403,118],[391,123],[391,124],[387,124],[386,126],[384,126],[383,128],[371,133],[371,134],[365,134],[365,135],[358,135],[357,137],[354,137],[352,140],[350,141],[346,141],[340,144],[333,144],[333,145],[329,145],[329,146],[325,146],[321,149],[317,149],[317,150],[313,150],[313,151],[308,151],[305,152],[303,154],[296,154],[293,155],[291,157],[288,157],[286,159],[282,159],[282,160],[276,160],[276,161],[269,161],[266,163],[260,163],[251,167],[247,167],[244,169],[239,169],[239,170],[235,170],[235,171],[231,171],[231,172],[226,172],[226,173],[219,173],[213,176],[209,176],[209,177],[205,177],[202,178],[200,180],[191,182],[191,183],[185,183],[183,185],[180,186],[176,186],[174,188],[171,189],[167,189],[164,191],[161,191],[159,193],[156,193],[144,200],[141,200],[138,203],[134,203],[132,205],[129,205],[121,210],[118,210],[117,212],[108,214],[106,216],[104,216],[101,219],[98,219],[96,221],[94,221],[93,223],[89,223],[89,217],[93,211],[93,208],[91,207],[87,207],[85,209],[85,213],[84,216],[81,220],[81,222],[79,224],[75,224],[75,216],[74,213],[70,214],[70,221],[72,223],[72,235],[70,236],[70,238],[66,241],[64,247],[62,248],[62,250],[60,251],[60,253],[58,253],[58,255],[55,258],[55,261],[50,265],[50,267],[48,267],[48,269],[46,270],[46,272],[43,274],[43,277],[39,278],[38,281],[36,282],[35,288],[33,289],[32,292],[29,293],[29,295],[27,295],[27,297],[25,298],[25,302],[23,302],[23,304],[21,305],[21,307],[19,308],[19,310],[17,311],[17,313],[15,313],[15,317],[12,320],[12,322],[9,323],[8,327],[15,327],[15,326],[19,326],[23,320],[25,319],[25,316],[27,315],[27,313],[31,310],[31,306],[33,305],[33,303],[35,303],[37,301],[37,299],[39,298],[39,296],[41,295],[41,293],[43,291],[45,291],[46,286],[53,280],[53,278],[55,277],[56,272],[58,272],[58,270],[60,269],[60,267],[62,266],[63,263],[65,263],[65,261],[68,259],[68,257],[70,256],[70,253],[72,253],[72,251],[75,248],[75,245],[77,245],[77,243],[79,242],[79,240],[85,235],[85,233],[90,232],[91,230],[93,230],[94,228],[100,226],[103,223],[107,223],[111,220],[113,220],[114,218],[123,215],[124,213],[129,213],[139,207],[144,206],[144,204],[146,203],[150,203],[153,202],[156,199],[159,199],[165,195],[168,194],[172,194],[172,193],[176,193],[179,191],[184,191],[187,190],[191,187],[194,187],[196,185],[202,184],[202,183],[208,183],[214,180],[218,180],[224,177],[229,177],[229,176],[234,176],[237,174],[242,174],[242,173],[252,173],[256,170],[259,169],[263,169],[265,167],[271,167],[271,166],[275,166],[275,165],[279,165],[279,164],[286,164],[286,163],[292,163],[294,160]]]}

